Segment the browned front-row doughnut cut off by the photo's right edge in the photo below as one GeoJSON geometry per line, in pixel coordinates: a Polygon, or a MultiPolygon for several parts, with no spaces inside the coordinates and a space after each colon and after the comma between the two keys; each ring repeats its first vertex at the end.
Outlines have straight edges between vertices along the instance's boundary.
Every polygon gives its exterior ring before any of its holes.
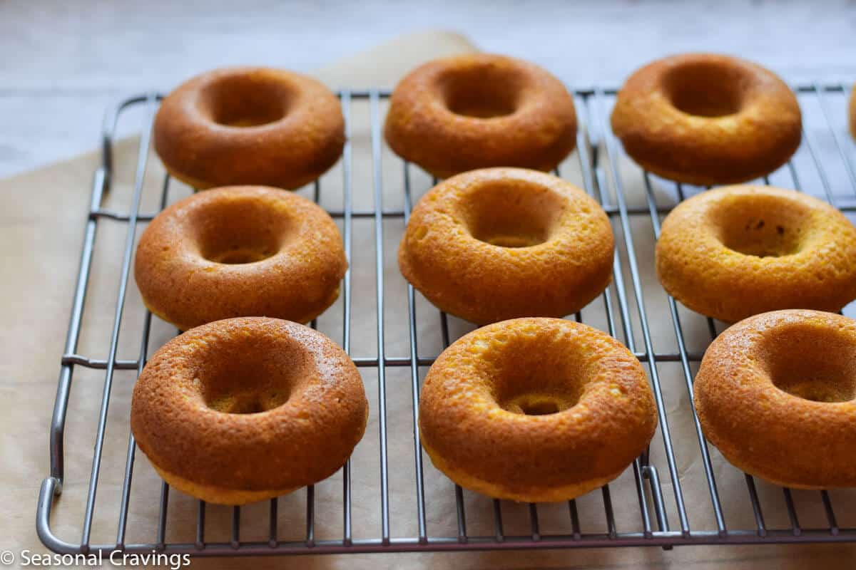
{"type": "Polygon", "coordinates": [[[758,314],[710,344],[694,384],[704,435],[777,485],[856,486],[856,321],[758,314]]]}

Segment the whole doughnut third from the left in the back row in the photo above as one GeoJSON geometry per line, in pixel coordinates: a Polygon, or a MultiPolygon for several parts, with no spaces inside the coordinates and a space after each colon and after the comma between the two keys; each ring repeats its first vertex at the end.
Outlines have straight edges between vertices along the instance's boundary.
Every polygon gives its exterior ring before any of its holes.
{"type": "Polygon", "coordinates": [[[800,104],[774,73],[736,57],[671,56],[621,87],[612,130],[639,166],[688,184],[746,182],[800,146],[800,104]]]}

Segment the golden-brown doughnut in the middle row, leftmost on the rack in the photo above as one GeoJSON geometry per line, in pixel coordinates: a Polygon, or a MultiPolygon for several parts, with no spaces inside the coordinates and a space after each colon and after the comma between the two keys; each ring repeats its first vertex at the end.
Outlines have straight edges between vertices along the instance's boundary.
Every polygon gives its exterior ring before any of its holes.
{"type": "Polygon", "coordinates": [[[158,214],[140,237],[143,303],[182,331],[212,320],[308,322],[339,296],[348,268],[330,216],[276,188],[199,192],[158,214]]]}

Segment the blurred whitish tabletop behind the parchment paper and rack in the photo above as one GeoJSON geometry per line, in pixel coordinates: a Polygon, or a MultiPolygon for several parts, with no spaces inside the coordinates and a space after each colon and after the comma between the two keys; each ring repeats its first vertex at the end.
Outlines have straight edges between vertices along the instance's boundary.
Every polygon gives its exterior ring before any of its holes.
{"type": "Polygon", "coordinates": [[[445,28],[571,85],[616,85],[687,50],[732,53],[789,80],[856,79],[856,3],[76,2],[0,3],[0,177],[98,142],[104,108],[218,66],[309,71],[406,32],[445,28]]]}

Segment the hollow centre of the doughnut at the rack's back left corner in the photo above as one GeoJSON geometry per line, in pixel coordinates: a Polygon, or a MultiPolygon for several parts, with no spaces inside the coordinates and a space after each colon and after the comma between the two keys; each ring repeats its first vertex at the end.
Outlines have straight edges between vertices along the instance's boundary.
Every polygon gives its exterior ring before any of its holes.
{"type": "Polygon", "coordinates": [[[206,85],[200,98],[203,111],[218,125],[261,126],[288,114],[288,86],[265,73],[224,75],[206,85]]]}

